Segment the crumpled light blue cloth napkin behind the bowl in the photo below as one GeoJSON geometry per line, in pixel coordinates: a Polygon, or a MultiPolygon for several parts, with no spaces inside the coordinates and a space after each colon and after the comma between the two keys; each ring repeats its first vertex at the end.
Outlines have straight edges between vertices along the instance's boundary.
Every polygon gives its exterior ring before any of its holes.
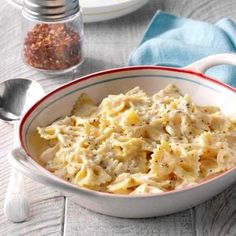
{"type": "MultiPolygon", "coordinates": [[[[203,57],[236,52],[236,24],[223,18],[215,25],[158,11],[129,65],[187,66],[203,57]]],[[[207,75],[236,87],[236,67],[217,66],[207,75]]]]}

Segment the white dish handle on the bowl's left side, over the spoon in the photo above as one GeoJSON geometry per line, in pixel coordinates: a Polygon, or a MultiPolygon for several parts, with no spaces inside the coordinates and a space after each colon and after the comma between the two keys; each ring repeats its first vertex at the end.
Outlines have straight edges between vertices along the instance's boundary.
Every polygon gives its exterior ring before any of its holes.
{"type": "Polygon", "coordinates": [[[42,168],[42,170],[44,170],[44,168],[37,166],[25,153],[23,148],[15,148],[12,152],[10,152],[8,154],[8,161],[17,171],[41,184],[49,185],[57,190],[61,190],[62,192],[80,192],[81,194],[86,194],[73,184],[65,182],[56,176],[49,176],[47,173],[40,173],[40,169],[42,168]]]}

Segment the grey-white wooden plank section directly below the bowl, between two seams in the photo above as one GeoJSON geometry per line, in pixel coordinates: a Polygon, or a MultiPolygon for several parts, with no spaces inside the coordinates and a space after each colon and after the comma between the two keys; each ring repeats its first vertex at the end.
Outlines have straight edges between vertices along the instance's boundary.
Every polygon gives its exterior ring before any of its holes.
{"type": "Polygon", "coordinates": [[[67,198],[65,216],[67,236],[151,236],[192,235],[190,211],[149,219],[122,219],[101,215],[78,206],[67,198]]]}

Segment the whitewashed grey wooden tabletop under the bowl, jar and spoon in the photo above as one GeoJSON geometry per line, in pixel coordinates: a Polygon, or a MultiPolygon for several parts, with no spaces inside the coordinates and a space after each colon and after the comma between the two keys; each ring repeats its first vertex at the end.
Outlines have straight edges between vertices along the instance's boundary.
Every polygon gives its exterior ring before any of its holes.
{"type": "MultiPolygon", "coordinates": [[[[20,57],[20,13],[4,1],[0,6],[0,80],[25,77],[48,92],[76,76],[124,66],[157,9],[211,23],[222,17],[236,21],[235,0],[150,0],[128,16],[85,25],[86,60],[77,75],[47,77],[26,67],[20,57]]],[[[151,219],[119,219],[86,210],[54,189],[26,180],[31,217],[20,224],[3,214],[13,129],[0,122],[0,235],[236,235],[236,184],[204,204],[178,214],[151,219]]]]}

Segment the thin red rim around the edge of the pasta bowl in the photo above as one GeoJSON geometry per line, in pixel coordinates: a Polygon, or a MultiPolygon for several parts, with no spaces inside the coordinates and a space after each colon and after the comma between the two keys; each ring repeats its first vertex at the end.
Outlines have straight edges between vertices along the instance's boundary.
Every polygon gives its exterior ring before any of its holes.
{"type": "MultiPolygon", "coordinates": [[[[48,97],[52,96],[53,94],[63,90],[64,88],[67,88],[67,87],[70,87],[71,85],[74,85],[74,84],[77,84],[77,83],[80,83],[82,81],[85,81],[85,80],[89,80],[95,76],[102,76],[102,75],[106,75],[106,74],[111,74],[111,73],[116,73],[116,72],[122,72],[122,71],[133,71],[133,70],[147,70],[147,69],[152,69],[152,70],[163,70],[163,71],[172,71],[172,72],[179,72],[179,73],[185,73],[185,74],[190,74],[190,75],[195,75],[195,76],[198,76],[200,79],[203,79],[203,80],[207,80],[207,81],[210,81],[214,84],[217,84],[217,85],[220,85],[234,93],[236,93],[236,88],[233,88],[225,83],[222,83],[216,79],[213,79],[211,77],[208,77],[200,72],[196,72],[196,71],[192,71],[192,70],[188,70],[188,69],[183,69],[183,68],[171,68],[171,67],[162,67],[162,66],[128,66],[128,67],[121,67],[121,68],[114,68],[114,69],[108,69],[108,70],[104,70],[104,71],[100,71],[100,72],[95,72],[95,73],[92,73],[92,74],[89,74],[89,75],[85,75],[85,76],[82,76],[82,77],[79,77],[78,79],[76,80],[73,80],[71,82],[68,82],[68,83],[65,83],[64,85],[56,88],[55,90],[51,91],[50,93],[46,94],[43,98],[41,98],[38,102],[36,102],[27,112],[26,114],[23,116],[21,122],[20,122],[20,127],[19,127],[19,137],[20,137],[20,145],[21,147],[24,149],[24,151],[26,152],[26,154],[32,159],[34,160],[30,155],[29,153],[26,151],[26,148],[23,144],[23,135],[22,135],[22,130],[23,130],[23,126],[27,120],[27,118],[30,116],[30,114],[35,110],[36,107],[38,107],[39,104],[41,104],[44,100],[46,100],[48,97]]],[[[37,162],[36,162],[37,163],[37,162]]],[[[38,163],[37,163],[38,164],[38,163]]],[[[45,168],[44,168],[45,169],[45,168]]],[[[46,170],[46,169],[45,169],[46,170]]],[[[154,197],[154,196],[165,196],[167,194],[172,194],[172,193],[176,193],[176,192],[182,192],[182,191],[187,191],[187,190],[190,190],[192,188],[196,188],[196,187],[200,187],[208,182],[211,182],[215,179],[218,179],[218,178],[221,178],[222,176],[224,176],[225,174],[233,171],[233,170],[236,170],[236,167],[233,167],[223,173],[220,173],[219,175],[216,175],[212,178],[209,178],[205,181],[202,181],[200,183],[198,183],[197,185],[195,186],[191,186],[191,187],[186,187],[186,188],[183,188],[183,189],[178,189],[178,190],[172,190],[172,191],[169,191],[169,192],[163,192],[161,194],[145,194],[145,195],[121,195],[121,194],[111,194],[111,193],[106,193],[106,192],[98,192],[98,191],[94,191],[94,190],[90,190],[90,189],[87,189],[87,188],[83,188],[83,187],[80,187],[80,186],[77,186],[77,185],[73,185],[74,187],[80,189],[80,190],[83,190],[83,191],[86,191],[88,193],[93,193],[93,194],[97,194],[97,195],[104,195],[104,196],[114,196],[114,197],[127,197],[129,196],[130,197],[154,197]]],[[[49,172],[49,171],[48,171],[49,172]]],[[[52,174],[51,172],[49,172],[50,174],[52,174]]],[[[69,183],[67,181],[64,181],[60,178],[58,178],[59,180],[61,180],[62,182],[65,182],[65,183],[69,183]]],[[[71,184],[71,183],[69,183],[71,184]]]]}

